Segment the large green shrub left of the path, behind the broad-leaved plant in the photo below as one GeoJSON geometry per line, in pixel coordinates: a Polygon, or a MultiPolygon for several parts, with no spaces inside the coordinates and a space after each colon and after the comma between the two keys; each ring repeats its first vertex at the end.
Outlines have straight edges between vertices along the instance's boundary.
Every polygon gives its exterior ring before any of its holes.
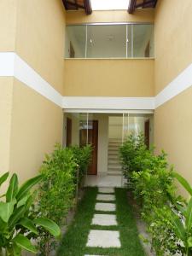
{"type": "MultiPolygon", "coordinates": [[[[51,218],[55,223],[63,224],[69,208],[73,205],[77,163],[73,150],[55,145],[52,154],[46,155],[40,168],[42,181],[39,187],[38,212],[40,216],[51,218]]],[[[42,230],[39,242],[41,255],[49,255],[55,242],[49,233],[42,230]]]]}

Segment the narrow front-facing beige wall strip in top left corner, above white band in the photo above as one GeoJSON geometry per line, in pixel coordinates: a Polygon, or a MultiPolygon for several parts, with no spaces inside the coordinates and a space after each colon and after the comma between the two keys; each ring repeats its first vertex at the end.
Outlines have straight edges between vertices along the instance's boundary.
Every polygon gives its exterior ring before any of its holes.
{"type": "Polygon", "coordinates": [[[17,0],[0,1],[0,52],[15,50],[17,0]]]}

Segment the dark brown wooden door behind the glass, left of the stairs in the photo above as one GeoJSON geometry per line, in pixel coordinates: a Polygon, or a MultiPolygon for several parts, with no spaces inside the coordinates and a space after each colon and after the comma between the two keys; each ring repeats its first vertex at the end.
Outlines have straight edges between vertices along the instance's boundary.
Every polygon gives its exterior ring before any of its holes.
{"type": "Polygon", "coordinates": [[[97,154],[98,154],[98,121],[93,120],[89,121],[88,129],[80,130],[80,146],[90,144],[93,148],[90,166],[88,168],[88,174],[96,175],[97,174],[97,154]]]}

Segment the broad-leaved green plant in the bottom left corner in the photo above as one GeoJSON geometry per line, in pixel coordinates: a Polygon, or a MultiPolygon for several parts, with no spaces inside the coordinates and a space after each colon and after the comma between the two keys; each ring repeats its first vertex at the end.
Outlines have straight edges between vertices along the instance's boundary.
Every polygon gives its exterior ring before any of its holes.
{"type": "MultiPolygon", "coordinates": [[[[9,177],[9,172],[0,177],[0,186],[9,177]]],[[[60,236],[60,228],[48,218],[32,218],[32,193],[31,189],[39,183],[42,176],[32,177],[19,187],[18,177],[13,174],[9,181],[6,194],[0,201],[0,254],[3,249],[6,255],[21,255],[22,249],[37,253],[37,248],[32,245],[30,238],[38,236],[38,228],[48,230],[53,236],[60,236]]]]}

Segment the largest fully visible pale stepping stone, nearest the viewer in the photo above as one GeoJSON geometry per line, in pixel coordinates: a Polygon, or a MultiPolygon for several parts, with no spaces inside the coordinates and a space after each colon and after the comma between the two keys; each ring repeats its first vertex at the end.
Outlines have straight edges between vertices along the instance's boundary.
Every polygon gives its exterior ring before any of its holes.
{"type": "Polygon", "coordinates": [[[119,248],[119,231],[90,230],[86,247],[119,248]]]}

